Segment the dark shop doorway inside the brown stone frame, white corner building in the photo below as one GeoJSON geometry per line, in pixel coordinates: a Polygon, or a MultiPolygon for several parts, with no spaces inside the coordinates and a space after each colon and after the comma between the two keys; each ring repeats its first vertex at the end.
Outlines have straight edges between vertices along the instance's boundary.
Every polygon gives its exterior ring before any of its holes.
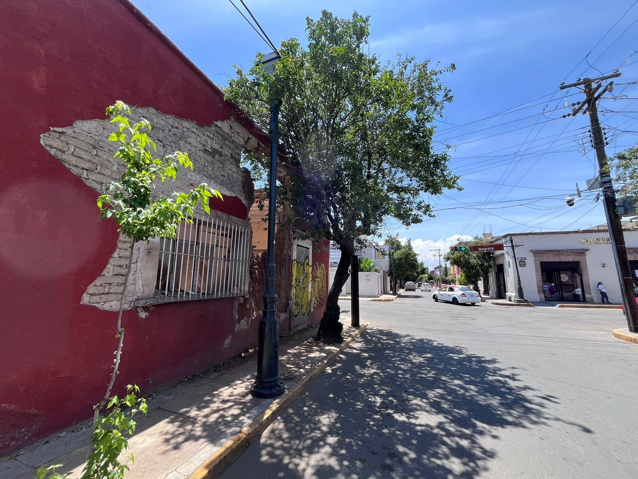
{"type": "Polygon", "coordinates": [[[585,301],[579,261],[541,261],[545,301],[585,301]]]}

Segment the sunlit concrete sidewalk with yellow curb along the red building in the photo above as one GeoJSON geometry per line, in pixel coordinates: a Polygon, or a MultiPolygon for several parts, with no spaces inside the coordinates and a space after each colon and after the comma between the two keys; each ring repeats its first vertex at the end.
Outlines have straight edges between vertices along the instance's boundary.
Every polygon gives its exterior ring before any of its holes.
{"type": "MultiPolygon", "coordinates": [[[[249,388],[256,354],[223,370],[191,376],[147,398],[146,416],[136,416],[129,452],[135,455],[126,479],[214,478],[231,464],[321,372],[359,337],[345,326],[339,347],[312,340],[316,327],[279,344],[279,373],[286,392],[277,399],[255,399],[249,388]]],[[[78,478],[91,446],[91,422],[49,436],[0,459],[0,478],[34,479],[40,466],[64,464],[57,473],[78,478]]]]}

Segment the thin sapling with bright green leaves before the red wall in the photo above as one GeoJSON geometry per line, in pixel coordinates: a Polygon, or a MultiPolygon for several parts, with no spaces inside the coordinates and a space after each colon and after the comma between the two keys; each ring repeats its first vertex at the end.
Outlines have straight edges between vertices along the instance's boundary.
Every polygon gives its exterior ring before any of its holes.
{"type": "MultiPolygon", "coordinates": [[[[121,479],[128,471],[128,464],[135,460],[131,454],[126,462],[120,462],[121,454],[128,449],[128,437],[135,432],[136,423],[133,416],[138,412],[146,414],[147,405],[144,399],[138,399],[138,386],[128,385],[127,394],[122,399],[117,395],[110,396],[115,378],[119,374],[119,365],[124,346],[124,328],[122,328],[122,311],[131,271],[133,249],[140,241],[148,242],[152,238],[165,237],[175,239],[182,222],[193,222],[193,213],[200,204],[210,213],[209,199],[221,193],[201,183],[186,193],[175,192],[170,197],[154,197],[157,181],[175,180],[181,169],[193,170],[193,162],[183,151],[175,151],[161,158],[154,158],[157,146],[149,133],[151,123],[140,119],[131,122],[131,109],[121,101],[107,107],[110,123],[117,130],[108,137],[108,141],[119,142],[115,158],[126,167],[119,181],[112,181],[105,187],[104,194],[97,200],[100,208],[100,220],[112,219],[117,231],[131,239],[130,255],[124,277],[124,289],[120,297],[117,313],[115,338],[118,339],[115,359],[111,371],[107,391],[102,400],[94,406],[93,415],[93,450],[89,454],[81,479],[121,479]],[[131,124],[132,123],[132,124],[131,124]],[[110,409],[108,414],[100,416],[103,409],[110,409]]],[[[61,464],[38,469],[36,479],[63,479],[69,473],[56,473],[61,464]]]]}

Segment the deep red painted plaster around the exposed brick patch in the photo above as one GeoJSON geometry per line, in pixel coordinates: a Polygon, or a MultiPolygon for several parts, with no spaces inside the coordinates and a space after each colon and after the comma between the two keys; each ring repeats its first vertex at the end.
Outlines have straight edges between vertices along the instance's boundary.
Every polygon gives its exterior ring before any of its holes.
{"type": "MultiPolygon", "coordinates": [[[[97,221],[97,193],[41,146],[41,133],[104,118],[114,100],[201,125],[234,112],[119,0],[6,0],[0,52],[1,454],[91,416],[116,347],[115,314],[80,298],[117,232],[97,221]]],[[[232,199],[225,208],[246,217],[232,199]]],[[[137,383],[149,393],[255,344],[256,322],[223,348],[233,307],[208,300],[159,305],[146,319],[125,312],[115,392],[137,383]]]]}

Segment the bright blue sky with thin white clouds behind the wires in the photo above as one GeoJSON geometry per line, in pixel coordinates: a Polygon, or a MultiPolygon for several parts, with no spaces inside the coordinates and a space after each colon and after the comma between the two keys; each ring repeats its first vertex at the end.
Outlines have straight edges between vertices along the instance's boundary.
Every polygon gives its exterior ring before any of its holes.
{"type": "MultiPolygon", "coordinates": [[[[234,0],[241,7],[239,0],[234,0]]],[[[638,2],[619,1],[299,1],[244,0],[271,40],[305,38],[306,17],[321,10],[371,16],[370,50],[383,60],[396,52],[457,70],[443,77],[454,102],[435,139],[451,144],[450,168],[461,192],[431,197],[437,216],[409,229],[392,219],[387,232],[412,239],[419,259],[462,235],[492,231],[560,231],[605,222],[595,192],[568,208],[575,183],[595,176],[587,116],[561,119],[579,89],[562,80],[595,77],[619,66],[612,93],[600,102],[607,155],[638,142],[638,2]],[[589,53],[588,61],[585,61],[589,53]],[[568,95],[567,97],[565,95],[568,95]],[[619,96],[619,98],[614,98],[619,96]],[[503,112],[507,112],[503,114],[503,112]]],[[[249,68],[269,48],[227,0],[134,2],[204,73],[225,85],[233,64],[249,68]]]]}

